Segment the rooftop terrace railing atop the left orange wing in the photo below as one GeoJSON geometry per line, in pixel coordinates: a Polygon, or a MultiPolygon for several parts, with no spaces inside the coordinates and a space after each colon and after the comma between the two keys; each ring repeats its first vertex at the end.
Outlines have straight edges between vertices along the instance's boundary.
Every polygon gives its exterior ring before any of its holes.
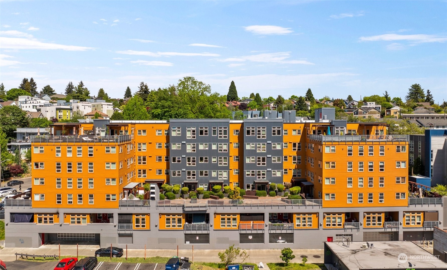
{"type": "Polygon", "coordinates": [[[125,143],[131,140],[131,135],[37,135],[30,136],[33,143],[125,143]]]}

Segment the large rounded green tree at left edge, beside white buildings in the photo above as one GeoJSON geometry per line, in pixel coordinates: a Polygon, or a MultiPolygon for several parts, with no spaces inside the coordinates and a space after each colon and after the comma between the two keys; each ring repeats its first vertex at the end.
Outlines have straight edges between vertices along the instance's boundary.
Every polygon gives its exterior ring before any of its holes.
{"type": "Polygon", "coordinates": [[[30,120],[26,117],[25,111],[19,107],[10,105],[0,109],[0,129],[8,138],[15,138],[14,131],[17,127],[29,127],[30,120]]]}

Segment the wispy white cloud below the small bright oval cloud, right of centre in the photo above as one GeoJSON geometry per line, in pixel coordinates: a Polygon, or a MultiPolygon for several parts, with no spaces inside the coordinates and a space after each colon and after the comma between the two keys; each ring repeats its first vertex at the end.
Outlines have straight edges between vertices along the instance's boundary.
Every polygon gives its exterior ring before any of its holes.
{"type": "Polygon", "coordinates": [[[306,64],[314,65],[306,60],[288,60],[290,58],[290,51],[265,53],[258,55],[245,55],[238,57],[230,57],[226,59],[217,59],[220,62],[260,62],[260,63],[287,63],[287,64],[306,64]]]}

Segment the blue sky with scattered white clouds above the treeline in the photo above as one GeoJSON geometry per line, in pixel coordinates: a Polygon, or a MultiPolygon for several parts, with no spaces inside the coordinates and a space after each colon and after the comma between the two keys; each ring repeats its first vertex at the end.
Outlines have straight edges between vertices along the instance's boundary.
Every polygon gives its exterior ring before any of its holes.
{"type": "Polygon", "coordinates": [[[1,1],[0,82],[122,97],[194,76],[239,97],[447,100],[446,1],[1,1]]]}

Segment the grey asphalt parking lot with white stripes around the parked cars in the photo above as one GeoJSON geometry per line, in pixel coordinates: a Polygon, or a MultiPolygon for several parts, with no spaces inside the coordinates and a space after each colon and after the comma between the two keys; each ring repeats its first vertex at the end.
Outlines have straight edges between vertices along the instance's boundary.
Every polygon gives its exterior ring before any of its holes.
{"type": "MultiPolygon", "coordinates": [[[[57,262],[6,262],[8,270],[51,270],[57,262]]],[[[157,263],[127,263],[127,262],[98,262],[94,270],[164,270],[164,264],[157,263]]]]}

